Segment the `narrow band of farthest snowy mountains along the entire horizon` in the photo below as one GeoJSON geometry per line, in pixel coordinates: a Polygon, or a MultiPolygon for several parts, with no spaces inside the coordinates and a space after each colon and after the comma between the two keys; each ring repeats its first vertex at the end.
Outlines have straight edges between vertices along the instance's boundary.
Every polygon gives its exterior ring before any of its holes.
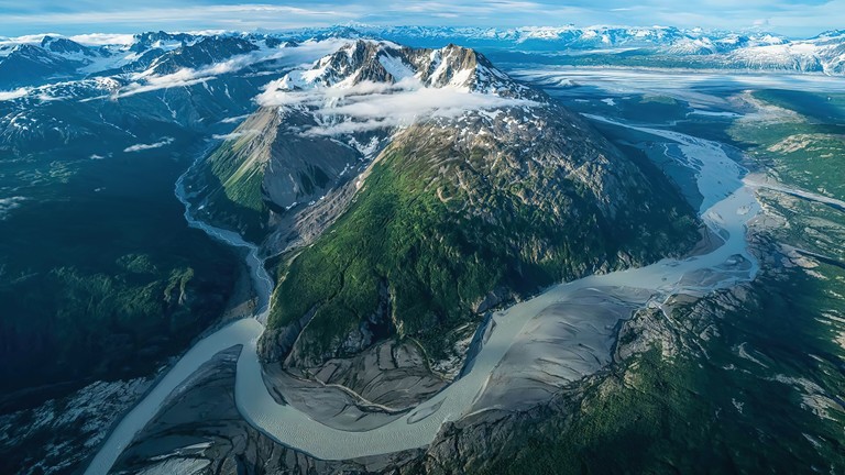
{"type": "MultiPolygon", "coordinates": [[[[845,31],[808,40],[768,33],[705,32],[676,27],[424,27],[334,26],[277,33],[190,34],[151,32],[119,44],[83,44],[68,37],[0,37],[0,90],[119,76],[131,82],[182,69],[246,67],[273,59],[279,45],[308,40],[387,40],[417,47],[449,43],[518,59],[646,67],[845,73],[845,31]],[[232,64],[220,65],[234,59],[232,64]]],[[[85,38],[85,37],[83,37],[85,38]]],[[[127,84],[129,84],[127,82],[127,84]]]]}

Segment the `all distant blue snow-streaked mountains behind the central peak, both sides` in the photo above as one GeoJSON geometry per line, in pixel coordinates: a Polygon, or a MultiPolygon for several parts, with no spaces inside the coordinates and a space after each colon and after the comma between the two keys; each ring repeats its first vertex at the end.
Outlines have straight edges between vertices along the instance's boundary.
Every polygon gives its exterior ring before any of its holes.
{"type": "Polygon", "coordinates": [[[252,112],[253,98],[265,85],[358,38],[428,48],[454,43],[482,52],[497,65],[845,73],[845,31],[789,40],[772,34],[658,26],[495,30],[358,25],[275,33],[0,37],[0,137],[6,146],[24,151],[48,137],[66,142],[83,136],[97,129],[95,122],[101,120],[101,112],[96,109],[101,100],[118,98],[132,99],[121,100],[109,111],[131,110],[132,114],[178,120],[188,126],[208,125],[209,114],[227,111],[231,118],[252,112]],[[151,91],[162,93],[145,93],[151,91]],[[206,99],[198,100],[197,96],[206,99]],[[69,108],[67,101],[57,99],[73,99],[77,106],[69,108]],[[80,128],[79,123],[90,123],[91,128],[80,128]]]}

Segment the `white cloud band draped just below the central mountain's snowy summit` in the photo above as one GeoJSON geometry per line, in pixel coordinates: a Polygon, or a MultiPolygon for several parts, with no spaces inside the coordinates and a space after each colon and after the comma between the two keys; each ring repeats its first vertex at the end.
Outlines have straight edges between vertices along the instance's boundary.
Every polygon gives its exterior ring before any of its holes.
{"type": "Polygon", "coordinates": [[[408,126],[429,119],[454,119],[469,111],[537,106],[525,99],[456,87],[424,87],[414,77],[397,84],[363,81],[344,88],[318,87],[296,91],[279,90],[284,84],[284,79],[271,82],[256,101],[263,107],[315,110],[323,124],[305,130],[304,135],[342,135],[408,126]]]}

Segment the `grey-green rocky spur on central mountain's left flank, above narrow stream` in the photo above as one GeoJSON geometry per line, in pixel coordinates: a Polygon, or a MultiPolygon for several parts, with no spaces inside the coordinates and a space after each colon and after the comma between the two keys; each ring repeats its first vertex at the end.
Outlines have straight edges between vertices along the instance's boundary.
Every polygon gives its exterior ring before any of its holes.
{"type": "Polygon", "coordinates": [[[306,125],[316,125],[312,117],[276,108],[262,108],[244,121],[209,157],[209,217],[263,240],[271,219],[289,232],[295,208],[314,205],[353,178],[361,154],[329,137],[301,136],[298,128],[306,125]]]}

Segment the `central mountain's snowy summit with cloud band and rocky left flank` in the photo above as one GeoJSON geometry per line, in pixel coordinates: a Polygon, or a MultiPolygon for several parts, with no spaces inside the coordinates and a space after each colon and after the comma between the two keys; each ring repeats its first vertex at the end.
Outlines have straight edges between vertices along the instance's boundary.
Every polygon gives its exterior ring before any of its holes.
{"type": "MultiPolygon", "coordinates": [[[[351,41],[267,84],[256,98],[259,111],[212,156],[215,179],[224,186],[211,201],[239,188],[244,209],[263,209],[266,200],[279,214],[300,210],[360,173],[398,130],[471,117],[493,122],[493,110],[513,110],[512,119],[522,121],[520,108],[541,100],[469,48],[351,41]],[[293,186],[278,174],[294,177],[293,186]]],[[[229,218],[253,231],[265,222],[229,218]]]]}

